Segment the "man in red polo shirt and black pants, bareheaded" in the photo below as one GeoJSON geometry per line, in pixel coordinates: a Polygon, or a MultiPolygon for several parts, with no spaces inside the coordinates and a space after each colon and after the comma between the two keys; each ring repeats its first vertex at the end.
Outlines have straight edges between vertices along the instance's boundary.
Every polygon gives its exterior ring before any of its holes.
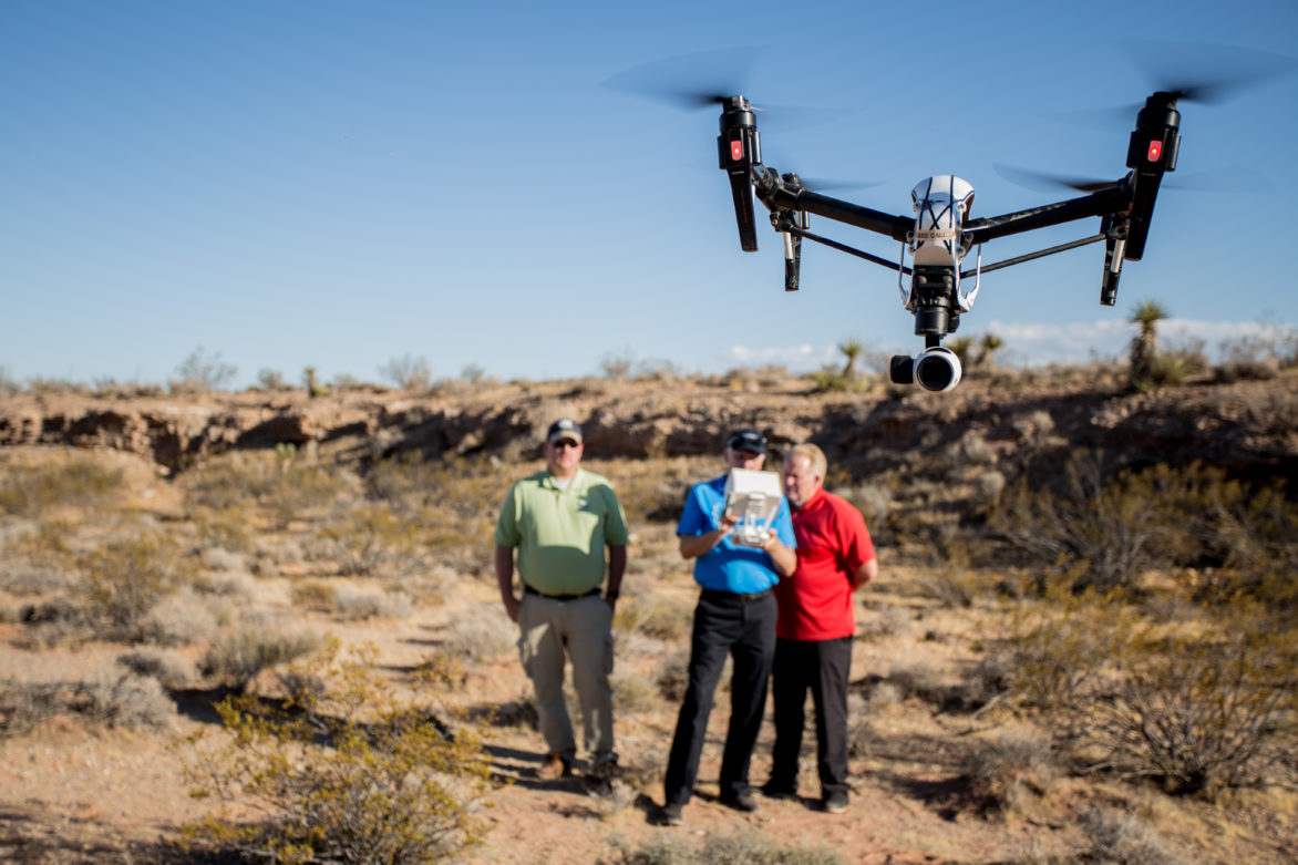
{"type": "Polygon", "coordinates": [[[762,791],[796,797],[807,690],[815,705],[816,769],[824,809],[848,808],[848,675],[857,633],[853,592],[879,575],[866,521],[827,492],[824,452],[794,445],[784,458],[784,495],[793,509],[798,566],[775,586],[775,748],[762,791]]]}

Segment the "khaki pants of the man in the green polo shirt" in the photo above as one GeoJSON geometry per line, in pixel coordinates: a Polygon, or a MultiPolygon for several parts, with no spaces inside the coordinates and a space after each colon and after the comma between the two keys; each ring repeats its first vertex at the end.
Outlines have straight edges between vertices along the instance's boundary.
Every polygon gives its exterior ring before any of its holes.
{"type": "Polygon", "coordinates": [[[617,761],[613,749],[613,612],[598,595],[554,600],[523,594],[518,613],[523,671],[536,691],[536,713],[550,753],[566,762],[576,740],[563,701],[563,657],[572,664],[572,686],[582,705],[585,749],[596,769],[617,761]]]}

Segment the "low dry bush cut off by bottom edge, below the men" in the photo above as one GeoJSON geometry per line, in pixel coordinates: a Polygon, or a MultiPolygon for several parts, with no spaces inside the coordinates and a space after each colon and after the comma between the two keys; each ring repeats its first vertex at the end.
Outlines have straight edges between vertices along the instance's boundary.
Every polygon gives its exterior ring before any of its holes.
{"type": "Polygon", "coordinates": [[[839,853],[803,839],[774,842],[755,829],[731,835],[707,834],[702,844],[675,834],[661,834],[632,848],[622,839],[611,842],[614,859],[606,865],[839,865],[839,853]]]}

